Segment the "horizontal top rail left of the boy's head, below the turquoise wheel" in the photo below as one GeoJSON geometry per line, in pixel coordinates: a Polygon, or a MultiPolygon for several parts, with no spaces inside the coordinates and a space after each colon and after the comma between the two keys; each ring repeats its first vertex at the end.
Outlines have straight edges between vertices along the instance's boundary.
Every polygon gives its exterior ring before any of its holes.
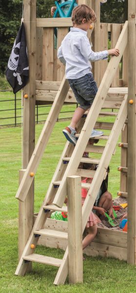
{"type": "Polygon", "coordinates": [[[37,27],[68,27],[73,26],[71,18],[38,18],[37,27]]]}

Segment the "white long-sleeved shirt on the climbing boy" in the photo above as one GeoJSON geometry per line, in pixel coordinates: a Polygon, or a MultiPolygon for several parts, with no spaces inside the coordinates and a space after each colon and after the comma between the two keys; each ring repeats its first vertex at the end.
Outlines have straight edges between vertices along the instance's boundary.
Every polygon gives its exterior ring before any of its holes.
{"type": "Polygon", "coordinates": [[[108,51],[92,51],[87,32],[71,27],[58,48],[57,56],[60,62],[66,64],[66,79],[78,79],[91,73],[91,61],[107,59],[108,51]]]}

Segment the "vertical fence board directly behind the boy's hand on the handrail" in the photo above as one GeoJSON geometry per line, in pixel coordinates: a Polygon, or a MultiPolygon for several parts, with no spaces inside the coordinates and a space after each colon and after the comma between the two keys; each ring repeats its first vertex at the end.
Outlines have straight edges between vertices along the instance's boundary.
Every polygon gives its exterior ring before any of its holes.
{"type": "MultiPolygon", "coordinates": [[[[121,24],[112,23],[111,26],[111,48],[115,48],[121,31],[121,24]]],[[[119,66],[117,67],[116,75],[112,81],[112,86],[119,86],[119,66]]]]}

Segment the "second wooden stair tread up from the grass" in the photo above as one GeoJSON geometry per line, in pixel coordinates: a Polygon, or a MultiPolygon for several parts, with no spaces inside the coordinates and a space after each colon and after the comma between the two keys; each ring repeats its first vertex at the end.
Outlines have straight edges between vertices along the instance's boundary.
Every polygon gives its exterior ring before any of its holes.
{"type": "Polygon", "coordinates": [[[57,238],[61,238],[61,239],[68,239],[67,232],[51,230],[51,229],[36,230],[36,231],[34,231],[34,234],[44,235],[44,236],[48,236],[48,237],[57,237],[57,238]]]}

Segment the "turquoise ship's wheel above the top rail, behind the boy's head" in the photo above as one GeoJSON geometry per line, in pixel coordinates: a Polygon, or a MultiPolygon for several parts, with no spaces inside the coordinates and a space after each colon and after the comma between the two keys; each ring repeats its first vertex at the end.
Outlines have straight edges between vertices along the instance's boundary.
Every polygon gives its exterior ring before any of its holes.
{"type": "Polygon", "coordinates": [[[55,5],[56,5],[57,9],[56,9],[56,11],[54,13],[53,18],[58,17],[58,15],[60,17],[71,17],[73,8],[78,6],[78,4],[76,3],[76,0],[66,1],[66,2],[63,2],[61,4],[59,4],[58,1],[55,1],[55,5]],[[61,9],[65,5],[69,5],[69,10],[68,10],[66,15],[64,14],[63,10],[61,9]]]}

